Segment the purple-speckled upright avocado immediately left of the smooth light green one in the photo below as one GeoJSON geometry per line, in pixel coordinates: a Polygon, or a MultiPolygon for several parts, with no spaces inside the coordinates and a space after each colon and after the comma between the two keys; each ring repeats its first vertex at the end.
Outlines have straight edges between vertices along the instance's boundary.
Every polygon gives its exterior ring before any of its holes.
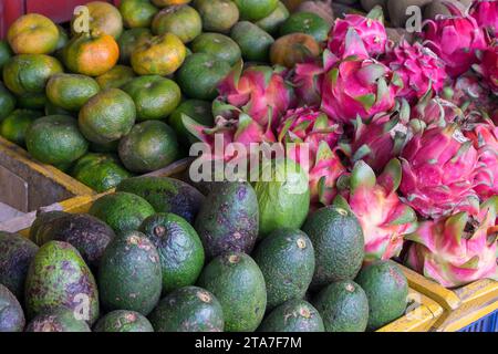
{"type": "Polygon", "coordinates": [[[259,231],[255,189],[248,183],[217,185],[203,204],[194,227],[208,259],[228,251],[250,253],[259,231]]]}

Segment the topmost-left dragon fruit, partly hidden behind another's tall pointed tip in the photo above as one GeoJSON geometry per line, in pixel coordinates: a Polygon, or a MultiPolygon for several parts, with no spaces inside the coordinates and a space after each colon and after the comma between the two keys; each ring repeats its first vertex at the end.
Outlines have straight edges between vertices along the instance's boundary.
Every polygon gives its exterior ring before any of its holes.
{"type": "Polygon", "coordinates": [[[387,33],[384,27],[382,8],[374,7],[366,17],[362,14],[346,14],[344,19],[336,19],[329,34],[329,50],[338,58],[343,58],[344,42],[350,28],[360,34],[367,53],[376,56],[385,53],[387,33]]]}

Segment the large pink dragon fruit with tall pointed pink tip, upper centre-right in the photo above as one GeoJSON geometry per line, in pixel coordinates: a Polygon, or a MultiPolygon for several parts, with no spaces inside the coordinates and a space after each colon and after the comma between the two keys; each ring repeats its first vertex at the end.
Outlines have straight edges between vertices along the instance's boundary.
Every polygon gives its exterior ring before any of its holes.
{"type": "Polygon", "coordinates": [[[373,117],[395,105],[400,77],[384,64],[369,58],[362,40],[353,28],[345,39],[344,59],[325,56],[322,84],[322,110],[344,124],[360,116],[373,117]]]}

